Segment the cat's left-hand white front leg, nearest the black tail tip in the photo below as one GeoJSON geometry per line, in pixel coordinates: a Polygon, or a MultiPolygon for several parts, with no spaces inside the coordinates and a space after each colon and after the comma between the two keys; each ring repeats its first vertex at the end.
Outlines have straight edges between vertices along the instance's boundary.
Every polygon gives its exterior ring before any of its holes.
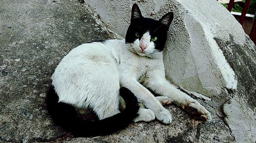
{"type": "MultiPolygon", "coordinates": [[[[142,102],[146,108],[151,109],[156,118],[163,123],[169,124],[172,122],[172,115],[165,109],[156,97],[148,91],[143,85],[141,85],[135,78],[121,77],[121,83],[123,87],[129,89],[138,98],[139,102],[142,102]]],[[[144,112],[144,109],[142,109],[144,112]]]]}

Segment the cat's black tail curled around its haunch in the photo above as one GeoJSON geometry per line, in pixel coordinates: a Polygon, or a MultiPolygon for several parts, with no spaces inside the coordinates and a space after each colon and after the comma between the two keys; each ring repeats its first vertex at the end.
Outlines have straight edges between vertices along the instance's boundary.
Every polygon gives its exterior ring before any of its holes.
{"type": "Polygon", "coordinates": [[[47,109],[53,121],[76,137],[106,135],[127,127],[138,116],[139,105],[134,94],[126,89],[120,89],[120,96],[126,107],[123,111],[109,118],[99,121],[85,121],[78,116],[72,105],[59,102],[53,86],[46,97],[47,109]]]}

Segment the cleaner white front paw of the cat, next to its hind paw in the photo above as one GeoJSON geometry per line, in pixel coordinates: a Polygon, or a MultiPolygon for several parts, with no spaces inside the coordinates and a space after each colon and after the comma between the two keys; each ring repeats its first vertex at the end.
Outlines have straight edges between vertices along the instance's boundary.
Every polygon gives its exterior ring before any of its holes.
{"type": "Polygon", "coordinates": [[[155,115],[156,115],[157,120],[159,120],[165,124],[172,123],[172,115],[165,108],[155,111],[155,115]]]}

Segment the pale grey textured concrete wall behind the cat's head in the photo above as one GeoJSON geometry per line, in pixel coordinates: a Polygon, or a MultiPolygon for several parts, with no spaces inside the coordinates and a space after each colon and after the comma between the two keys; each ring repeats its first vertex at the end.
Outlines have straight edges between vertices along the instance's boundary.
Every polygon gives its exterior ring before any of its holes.
{"type": "MultiPolygon", "coordinates": [[[[115,34],[124,37],[130,23],[131,7],[136,1],[86,1],[115,34]]],[[[207,1],[209,12],[199,1],[137,1],[144,16],[159,19],[175,13],[165,49],[167,78],[179,87],[207,97],[236,89],[237,80],[214,37],[228,39],[227,31],[241,27],[236,19],[216,2],[207,1]],[[227,22],[228,21],[228,22],[227,22]]],[[[237,35],[245,35],[242,28],[237,35]]],[[[237,36],[236,36],[237,37],[237,36]]],[[[245,41],[245,36],[240,42],[245,41]]]]}

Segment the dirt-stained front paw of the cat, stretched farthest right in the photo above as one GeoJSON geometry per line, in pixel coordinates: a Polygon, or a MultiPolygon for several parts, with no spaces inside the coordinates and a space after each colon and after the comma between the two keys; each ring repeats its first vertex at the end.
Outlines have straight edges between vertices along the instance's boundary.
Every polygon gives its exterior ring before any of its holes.
{"type": "Polygon", "coordinates": [[[183,105],[182,108],[200,121],[211,121],[210,112],[196,100],[190,101],[187,105],[183,105]]]}

